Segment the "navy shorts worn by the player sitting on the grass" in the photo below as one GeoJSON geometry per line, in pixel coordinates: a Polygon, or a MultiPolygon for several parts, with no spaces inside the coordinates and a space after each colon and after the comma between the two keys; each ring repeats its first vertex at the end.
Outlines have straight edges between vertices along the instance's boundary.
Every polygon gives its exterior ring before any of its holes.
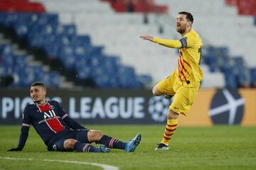
{"type": "Polygon", "coordinates": [[[67,135],[60,137],[55,144],[48,146],[49,151],[66,151],[64,148],[64,142],[68,139],[78,140],[82,143],[89,143],[87,133],[88,129],[70,130],[67,135]]]}

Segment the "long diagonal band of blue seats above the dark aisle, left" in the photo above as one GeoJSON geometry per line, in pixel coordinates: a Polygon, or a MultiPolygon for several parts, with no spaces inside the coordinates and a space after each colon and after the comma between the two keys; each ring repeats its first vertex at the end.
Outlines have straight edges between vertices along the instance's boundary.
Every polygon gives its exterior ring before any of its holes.
{"type": "MultiPolygon", "coordinates": [[[[63,7],[65,8],[65,7],[63,7]]],[[[30,48],[42,48],[48,58],[58,58],[78,79],[93,79],[102,88],[141,88],[149,75],[138,76],[134,68],[119,58],[102,53],[104,47],[90,44],[90,37],[77,35],[73,24],[62,26],[51,13],[1,13],[4,27],[14,28],[18,38],[26,38],[30,48]]]]}

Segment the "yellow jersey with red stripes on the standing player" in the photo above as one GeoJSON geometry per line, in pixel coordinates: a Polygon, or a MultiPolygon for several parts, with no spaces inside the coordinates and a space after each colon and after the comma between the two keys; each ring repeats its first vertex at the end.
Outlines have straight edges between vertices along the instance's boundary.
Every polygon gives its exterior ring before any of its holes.
{"type": "Polygon", "coordinates": [[[154,38],[154,42],[166,47],[179,48],[178,68],[175,72],[183,86],[194,87],[200,84],[203,79],[200,67],[203,42],[195,30],[191,29],[181,40],[154,38]]]}

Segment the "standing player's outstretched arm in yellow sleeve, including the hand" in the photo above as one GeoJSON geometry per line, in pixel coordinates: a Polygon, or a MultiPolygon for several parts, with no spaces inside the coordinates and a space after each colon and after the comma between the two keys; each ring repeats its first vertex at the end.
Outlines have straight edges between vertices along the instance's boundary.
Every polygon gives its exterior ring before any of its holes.
{"type": "Polygon", "coordinates": [[[152,37],[150,35],[141,35],[139,36],[139,38],[142,38],[143,40],[149,40],[151,42],[155,42],[159,45],[164,45],[166,47],[171,47],[171,48],[181,48],[183,47],[183,41],[186,40],[183,38],[181,40],[164,40],[161,38],[156,38],[156,37],[152,37]]]}

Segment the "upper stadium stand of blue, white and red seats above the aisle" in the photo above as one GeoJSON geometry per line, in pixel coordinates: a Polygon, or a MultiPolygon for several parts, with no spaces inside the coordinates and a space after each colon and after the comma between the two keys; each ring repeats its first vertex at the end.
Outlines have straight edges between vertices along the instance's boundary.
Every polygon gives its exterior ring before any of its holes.
{"type": "MultiPolygon", "coordinates": [[[[60,60],[76,79],[92,79],[97,87],[152,86],[176,69],[176,50],[139,40],[139,35],[179,38],[174,24],[178,11],[193,13],[193,28],[203,37],[203,88],[256,84],[254,18],[239,16],[235,7],[245,0],[22,1],[40,4],[33,12],[47,13],[17,14],[23,19],[11,26],[18,37],[45,50],[48,60],[60,60]]],[[[15,20],[15,13],[7,15],[15,20]]]]}

